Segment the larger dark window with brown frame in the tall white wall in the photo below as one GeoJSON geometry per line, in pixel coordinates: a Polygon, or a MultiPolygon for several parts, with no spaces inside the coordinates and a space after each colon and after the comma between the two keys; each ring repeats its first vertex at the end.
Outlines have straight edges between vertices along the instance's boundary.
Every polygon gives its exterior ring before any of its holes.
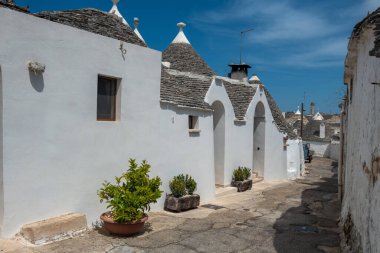
{"type": "Polygon", "coordinates": [[[97,120],[116,120],[116,100],[118,80],[115,78],[98,76],[97,120]]]}

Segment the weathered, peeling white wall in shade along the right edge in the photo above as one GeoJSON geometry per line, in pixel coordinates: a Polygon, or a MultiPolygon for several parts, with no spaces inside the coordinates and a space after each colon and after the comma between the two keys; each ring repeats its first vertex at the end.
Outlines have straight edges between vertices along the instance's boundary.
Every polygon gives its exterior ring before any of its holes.
{"type": "Polygon", "coordinates": [[[380,252],[380,8],[353,29],[339,169],[344,252],[380,252]]]}

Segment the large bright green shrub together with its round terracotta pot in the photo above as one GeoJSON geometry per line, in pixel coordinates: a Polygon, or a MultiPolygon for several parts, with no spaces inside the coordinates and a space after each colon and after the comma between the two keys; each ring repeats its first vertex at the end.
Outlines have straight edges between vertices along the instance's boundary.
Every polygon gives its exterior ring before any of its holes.
{"type": "Polygon", "coordinates": [[[129,169],[115,178],[116,184],[103,183],[98,196],[100,202],[108,204],[110,211],[103,213],[100,219],[110,233],[131,235],[144,229],[144,223],[148,220],[146,211],[162,194],[161,179],[149,178],[149,171],[150,165],[145,160],[138,166],[136,160],[130,159],[129,169]]]}

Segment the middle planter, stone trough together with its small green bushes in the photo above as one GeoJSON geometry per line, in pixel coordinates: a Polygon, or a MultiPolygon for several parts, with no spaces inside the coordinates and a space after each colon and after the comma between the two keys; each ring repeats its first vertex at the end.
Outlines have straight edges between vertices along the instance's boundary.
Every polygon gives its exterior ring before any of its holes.
{"type": "Polygon", "coordinates": [[[169,187],[171,194],[166,195],[165,210],[181,212],[199,206],[200,196],[194,194],[197,183],[191,176],[175,176],[169,182],[169,187]]]}

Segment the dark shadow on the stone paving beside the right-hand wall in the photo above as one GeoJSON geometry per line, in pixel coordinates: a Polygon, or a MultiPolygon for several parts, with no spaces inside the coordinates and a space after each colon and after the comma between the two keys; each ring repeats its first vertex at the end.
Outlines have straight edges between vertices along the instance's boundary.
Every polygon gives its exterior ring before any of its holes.
{"type": "Polygon", "coordinates": [[[337,228],[341,204],[338,199],[337,163],[332,162],[332,165],[333,176],[322,165],[310,172],[309,178],[314,178],[313,181],[297,180],[310,187],[302,192],[300,206],[288,209],[273,225],[277,252],[311,253],[339,249],[337,228]]]}

